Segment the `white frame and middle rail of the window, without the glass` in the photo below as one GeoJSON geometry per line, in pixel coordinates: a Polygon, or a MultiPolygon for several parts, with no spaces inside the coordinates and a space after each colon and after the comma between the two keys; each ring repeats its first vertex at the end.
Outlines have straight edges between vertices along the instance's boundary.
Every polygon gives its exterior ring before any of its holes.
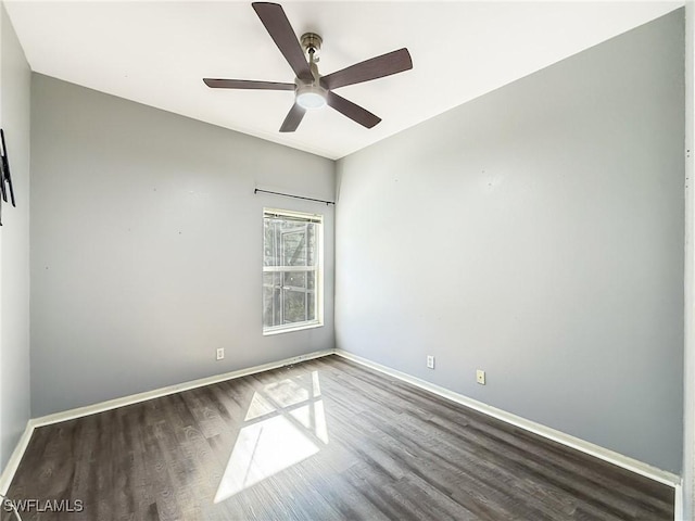
{"type": "Polygon", "coordinates": [[[264,232],[263,232],[263,258],[262,258],[262,275],[261,275],[261,304],[262,304],[262,327],[263,327],[263,335],[273,335],[279,333],[289,333],[292,331],[302,331],[304,329],[313,329],[320,328],[324,326],[324,216],[321,214],[308,214],[305,212],[294,212],[290,209],[279,209],[279,208],[263,208],[263,224],[264,224],[264,232]],[[306,266],[265,266],[265,218],[268,215],[273,215],[276,217],[287,217],[289,219],[299,219],[305,220],[307,223],[314,223],[318,225],[316,232],[316,246],[317,246],[317,264],[315,268],[307,268],[306,266]],[[264,291],[265,291],[265,282],[263,280],[263,276],[268,272],[279,272],[279,271],[316,271],[316,288],[315,288],[315,319],[307,320],[304,322],[293,322],[287,325],[279,325],[266,328],[263,323],[263,313],[265,312],[265,302],[264,302],[264,291]]]}

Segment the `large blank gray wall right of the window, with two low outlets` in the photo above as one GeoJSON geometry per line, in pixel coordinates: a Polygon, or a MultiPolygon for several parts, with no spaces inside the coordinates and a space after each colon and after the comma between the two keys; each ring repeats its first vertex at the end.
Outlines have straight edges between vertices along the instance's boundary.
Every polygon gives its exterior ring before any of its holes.
{"type": "Polygon", "coordinates": [[[337,346],[680,472],[683,89],[680,10],[341,160],[337,346]]]}

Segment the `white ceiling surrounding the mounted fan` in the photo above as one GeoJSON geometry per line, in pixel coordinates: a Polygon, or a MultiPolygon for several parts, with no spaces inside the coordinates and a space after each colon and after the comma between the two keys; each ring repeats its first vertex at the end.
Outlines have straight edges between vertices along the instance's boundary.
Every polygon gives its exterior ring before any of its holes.
{"type": "Polygon", "coordinates": [[[203,77],[293,81],[240,1],[5,2],[31,69],[339,158],[644,24],[683,2],[281,2],[298,35],[324,38],[326,75],[407,47],[414,68],[337,90],[383,120],[323,109],[278,128],[288,91],[208,89],[203,77]]]}

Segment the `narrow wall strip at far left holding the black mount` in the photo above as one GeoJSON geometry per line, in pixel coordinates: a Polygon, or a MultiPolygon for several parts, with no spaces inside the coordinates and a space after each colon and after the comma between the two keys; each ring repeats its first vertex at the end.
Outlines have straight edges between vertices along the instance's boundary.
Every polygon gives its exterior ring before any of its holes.
{"type": "Polygon", "coordinates": [[[17,207],[2,205],[0,228],[0,469],[29,419],[29,102],[30,73],[0,4],[0,126],[5,131],[17,207]]]}

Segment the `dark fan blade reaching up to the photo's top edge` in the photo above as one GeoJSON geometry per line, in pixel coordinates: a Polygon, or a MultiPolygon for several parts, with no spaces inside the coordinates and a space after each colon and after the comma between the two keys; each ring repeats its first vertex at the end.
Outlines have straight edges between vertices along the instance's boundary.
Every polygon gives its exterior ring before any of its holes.
{"type": "Polygon", "coordinates": [[[314,76],[282,7],[270,2],[254,2],[251,5],[296,77],[311,81],[314,76]]]}

